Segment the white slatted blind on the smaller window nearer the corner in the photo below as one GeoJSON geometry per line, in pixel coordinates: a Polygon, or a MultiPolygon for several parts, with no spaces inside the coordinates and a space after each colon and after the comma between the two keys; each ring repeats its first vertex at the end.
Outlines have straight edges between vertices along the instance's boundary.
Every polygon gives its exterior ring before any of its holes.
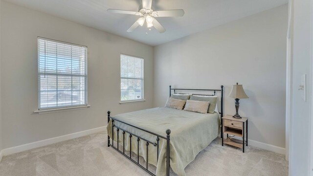
{"type": "Polygon", "coordinates": [[[143,99],[143,59],[121,54],[121,101],[143,99]]]}

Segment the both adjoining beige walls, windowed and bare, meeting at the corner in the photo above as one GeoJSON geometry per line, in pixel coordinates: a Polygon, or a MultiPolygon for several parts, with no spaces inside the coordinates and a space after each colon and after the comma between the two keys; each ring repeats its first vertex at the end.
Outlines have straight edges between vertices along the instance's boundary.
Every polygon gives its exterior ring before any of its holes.
{"type": "Polygon", "coordinates": [[[239,111],[249,117],[249,139],[285,147],[287,5],[156,46],[155,51],[5,1],[0,15],[2,148],[104,126],[107,110],[114,115],[164,106],[169,85],[224,85],[225,113],[233,114],[234,100],[227,95],[236,82],[250,97],[240,101],[239,111]],[[37,36],[88,46],[89,109],[33,113],[38,109],[37,36]],[[118,104],[120,53],[145,59],[146,102],[118,104]]]}

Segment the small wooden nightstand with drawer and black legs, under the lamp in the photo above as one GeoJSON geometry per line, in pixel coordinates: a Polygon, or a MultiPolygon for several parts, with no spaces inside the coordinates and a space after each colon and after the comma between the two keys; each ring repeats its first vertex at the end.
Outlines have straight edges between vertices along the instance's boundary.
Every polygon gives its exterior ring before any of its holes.
{"type": "Polygon", "coordinates": [[[232,115],[225,115],[222,117],[222,146],[225,144],[232,145],[243,149],[245,153],[245,144],[248,146],[248,118],[234,118],[232,115]],[[227,138],[224,140],[224,133],[227,134],[227,138]],[[229,135],[242,137],[243,140],[229,138],[229,135]],[[245,136],[246,135],[246,136],[245,136]],[[246,137],[246,141],[245,141],[246,137]]]}

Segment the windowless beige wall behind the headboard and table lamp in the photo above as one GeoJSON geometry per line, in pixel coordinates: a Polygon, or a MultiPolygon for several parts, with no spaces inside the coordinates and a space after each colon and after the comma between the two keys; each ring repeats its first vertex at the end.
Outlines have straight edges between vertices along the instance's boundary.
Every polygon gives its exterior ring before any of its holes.
{"type": "Polygon", "coordinates": [[[224,85],[225,114],[234,114],[227,96],[239,82],[250,97],[239,110],[249,117],[249,139],[285,148],[287,14],[284,5],[156,46],[154,106],[164,106],[169,85],[224,85]]]}

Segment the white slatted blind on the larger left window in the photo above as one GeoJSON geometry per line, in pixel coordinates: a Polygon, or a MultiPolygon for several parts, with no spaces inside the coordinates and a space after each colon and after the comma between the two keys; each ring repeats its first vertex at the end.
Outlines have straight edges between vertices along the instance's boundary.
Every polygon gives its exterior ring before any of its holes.
{"type": "Polygon", "coordinates": [[[87,105],[87,47],[38,38],[39,110],[87,105]]]}

